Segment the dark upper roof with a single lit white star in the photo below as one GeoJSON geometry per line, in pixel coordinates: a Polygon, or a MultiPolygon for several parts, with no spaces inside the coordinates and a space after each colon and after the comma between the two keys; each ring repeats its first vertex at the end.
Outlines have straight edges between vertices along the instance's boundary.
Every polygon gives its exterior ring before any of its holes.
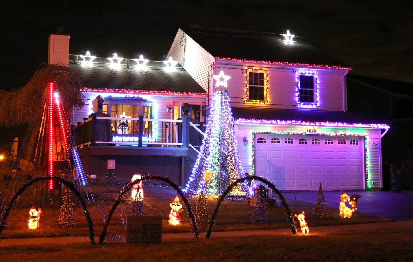
{"type": "Polygon", "coordinates": [[[289,45],[284,43],[281,34],[275,33],[218,30],[196,26],[191,26],[185,33],[214,57],[351,69],[297,37],[293,39],[294,43],[289,45]]]}

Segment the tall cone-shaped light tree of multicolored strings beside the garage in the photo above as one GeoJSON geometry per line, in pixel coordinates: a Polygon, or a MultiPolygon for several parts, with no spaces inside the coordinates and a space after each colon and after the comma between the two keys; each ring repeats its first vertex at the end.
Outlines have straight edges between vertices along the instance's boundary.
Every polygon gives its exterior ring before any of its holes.
{"type": "MultiPolygon", "coordinates": [[[[201,153],[184,189],[186,193],[199,194],[205,191],[207,196],[216,197],[230,183],[244,176],[229,102],[228,92],[216,91],[212,97],[201,153]],[[211,171],[211,179],[204,178],[204,171],[211,171]]],[[[247,183],[238,184],[231,190],[230,195],[245,196],[247,191],[247,183]]]]}

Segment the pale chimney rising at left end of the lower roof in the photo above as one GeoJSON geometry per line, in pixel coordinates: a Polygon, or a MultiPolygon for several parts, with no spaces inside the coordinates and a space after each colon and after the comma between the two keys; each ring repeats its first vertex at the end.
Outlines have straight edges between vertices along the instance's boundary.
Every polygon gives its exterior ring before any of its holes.
{"type": "Polygon", "coordinates": [[[70,35],[49,36],[49,64],[69,66],[70,35]]]}

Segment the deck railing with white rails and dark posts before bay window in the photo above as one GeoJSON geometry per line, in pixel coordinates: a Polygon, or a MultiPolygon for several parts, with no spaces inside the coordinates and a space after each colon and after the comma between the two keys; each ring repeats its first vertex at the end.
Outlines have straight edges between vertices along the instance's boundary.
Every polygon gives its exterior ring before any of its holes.
{"type": "Polygon", "coordinates": [[[200,146],[203,136],[199,134],[203,126],[183,119],[152,119],[109,117],[92,114],[72,129],[78,147],[100,146],[154,146],[188,147],[200,146]],[[191,126],[192,125],[192,126],[191,126]],[[196,127],[196,129],[194,128],[196,127]]]}

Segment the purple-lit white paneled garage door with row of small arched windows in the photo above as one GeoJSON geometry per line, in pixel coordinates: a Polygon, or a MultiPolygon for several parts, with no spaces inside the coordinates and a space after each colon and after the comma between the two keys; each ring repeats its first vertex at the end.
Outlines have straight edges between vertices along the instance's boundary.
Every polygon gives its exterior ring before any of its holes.
{"type": "Polygon", "coordinates": [[[364,189],[363,137],[256,134],[255,174],[280,190],[364,189]]]}

